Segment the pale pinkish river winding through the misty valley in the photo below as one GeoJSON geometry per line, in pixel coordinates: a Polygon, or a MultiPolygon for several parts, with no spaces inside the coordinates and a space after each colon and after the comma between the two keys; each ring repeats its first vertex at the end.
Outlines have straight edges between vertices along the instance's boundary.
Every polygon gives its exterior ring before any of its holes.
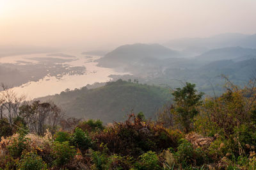
{"type": "MultiPolygon", "coordinates": [[[[111,68],[97,66],[95,59],[99,56],[86,56],[79,52],[61,52],[56,54],[29,54],[20,56],[8,56],[0,58],[0,64],[12,63],[13,65],[47,65],[54,63],[65,67],[68,72],[60,72],[52,75],[51,71],[38,81],[29,81],[19,87],[13,88],[18,94],[24,94],[28,99],[44,97],[61,93],[65,89],[76,89],[93,84],[95,82],[108,82],[109,75],[122,75],[111,68]],[[66,55],[68,54],[68,55],[66,55]],[[51,62],[52,61],[52,62],[51,62]]],[[[56,68],[53,65],[52,68],[56,68]]],[[[60,70],[60,69],[59,69],[60,70]]],[[[54,71],[56,73],[56,71],[54,71]]],[[[33,76],[31,76],[33,78],[33,76]]]]}

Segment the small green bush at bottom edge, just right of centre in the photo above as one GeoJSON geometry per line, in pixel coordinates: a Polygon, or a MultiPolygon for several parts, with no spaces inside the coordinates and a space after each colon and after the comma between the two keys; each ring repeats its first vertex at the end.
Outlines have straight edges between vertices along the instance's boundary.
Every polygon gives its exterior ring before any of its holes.
{"type": "Polygon", "coordinates": [[[140,155],[139,162],[136,162],[136,168],[138,169],[161,169],[159,166],[159,159],[154,151],[148,151],[140,155]]]}

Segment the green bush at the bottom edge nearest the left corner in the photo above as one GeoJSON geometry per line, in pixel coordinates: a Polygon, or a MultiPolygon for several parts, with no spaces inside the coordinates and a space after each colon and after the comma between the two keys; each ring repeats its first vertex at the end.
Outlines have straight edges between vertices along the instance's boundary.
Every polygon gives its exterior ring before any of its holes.
{"type": "Polygon", "coordinates": [[[46,169],[47,164],[33,151],[23,152],[17,166],[21,170],[46,169]]]}

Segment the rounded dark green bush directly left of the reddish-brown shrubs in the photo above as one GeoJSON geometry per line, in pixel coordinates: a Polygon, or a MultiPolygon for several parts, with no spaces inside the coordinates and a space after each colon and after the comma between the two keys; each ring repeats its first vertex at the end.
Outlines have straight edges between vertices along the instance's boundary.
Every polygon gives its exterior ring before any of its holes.
{"type": "Polygon", "coordinates": [[[76,128],[71,143],[81,150],[88,150],[88,148],[92,147],[92,139],[81,128],[76,128]]]}

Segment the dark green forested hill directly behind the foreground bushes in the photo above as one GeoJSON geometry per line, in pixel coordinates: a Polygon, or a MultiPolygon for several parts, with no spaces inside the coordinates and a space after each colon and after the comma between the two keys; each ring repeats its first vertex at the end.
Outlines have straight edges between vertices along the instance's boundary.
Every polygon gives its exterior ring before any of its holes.
{"type": "Polygon", "coordinates": [[[86,87],[40,98],[52,100],[76,118],[100,119],[104,123],[125,120],[132,109],[154,118],[157,110],[170,101],[167,88],[118,80],[95,89],[86,87]]]}

